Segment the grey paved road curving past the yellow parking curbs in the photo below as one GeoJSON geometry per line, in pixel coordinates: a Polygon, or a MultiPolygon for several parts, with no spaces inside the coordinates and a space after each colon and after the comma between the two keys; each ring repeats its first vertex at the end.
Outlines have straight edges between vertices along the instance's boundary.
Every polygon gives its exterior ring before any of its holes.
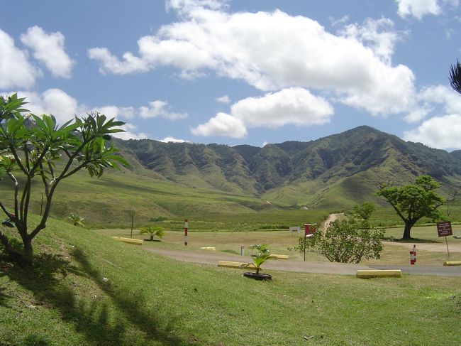
{"type": "MultiPolygon", "coordinates": [[[[148,251],[168,256],[178,261],[185,261],[199,264],[218,265],[218,261],[238,261],[252,262],[250,256],[240,256],[227,254],[224,252],[188,252],[186,250],[169,250],[145,248],[148,251]]],[[[284,259],[267,261],[264,264],[265,269],[279,271],[298,271],[304,273],[321,273],[321,274],[341,274],[355,275],[357,270],[367,269],[401,269],[404,274],[423,274],[439,276],[461,276],[461,266],[384,266],[371,265],[364,266],[361,264],[344,264],[329,262],[304,262],[289,261],[284,259]]]]}

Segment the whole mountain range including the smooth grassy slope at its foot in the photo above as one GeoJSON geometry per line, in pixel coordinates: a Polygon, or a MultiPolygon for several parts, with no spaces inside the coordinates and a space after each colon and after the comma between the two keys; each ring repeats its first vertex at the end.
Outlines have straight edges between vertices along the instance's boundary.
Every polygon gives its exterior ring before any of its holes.
{"type": "MultiPolygon", "coordinates": [[[[183,218],[189,218],[205,222],[196,229],[245,229],[248,222],[270,228],[318,222],[328,212],[364,201],[389,207],[375,195],[382,182],[401,185],[430,174],[442,183],[445,196],[461,186],[461,151],[405,142],[368,126],[263,148],[113,142],[131,168],[108,170],[101,178],[85,171],[72,175],[57,188],[52,217],[79,212],[89,226],[130,227],[134,212],[135,227],[160,218],[175,220],[181,229],[183,218]]],[[[40,214],[40,180],[33,187],[32,212],[40,214]]],[[[13,183],[6,177],[0,195],[11,207],[13,183]]]]}

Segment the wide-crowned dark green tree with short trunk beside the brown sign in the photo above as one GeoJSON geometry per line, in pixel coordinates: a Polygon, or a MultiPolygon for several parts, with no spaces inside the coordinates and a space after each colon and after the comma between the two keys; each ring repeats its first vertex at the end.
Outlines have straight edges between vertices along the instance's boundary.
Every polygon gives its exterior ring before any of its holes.
{"type": "Polygon", "coordinates": [[[435,193],[434,190],[438,188],[440,184],[429,175],[420,175],[416,177],[415,183],[400,188],[380,185],[377,195],[386,198],[405,222],[402,239],[411,239],[411,227],[422,217],[430,217],[432,220],[443,219],[438,207],[443,205],[445,200],[435,193]]]}

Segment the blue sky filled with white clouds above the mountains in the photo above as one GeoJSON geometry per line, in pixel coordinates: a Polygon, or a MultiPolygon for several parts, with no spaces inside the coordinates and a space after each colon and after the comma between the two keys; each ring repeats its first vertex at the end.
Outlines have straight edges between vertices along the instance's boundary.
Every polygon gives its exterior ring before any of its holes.
{"type": "Polygon", "coordinates": [[[123,139],[235,146],[368,125],[461,149],[459,0],[0,0],[0,94],[123,139]]]}

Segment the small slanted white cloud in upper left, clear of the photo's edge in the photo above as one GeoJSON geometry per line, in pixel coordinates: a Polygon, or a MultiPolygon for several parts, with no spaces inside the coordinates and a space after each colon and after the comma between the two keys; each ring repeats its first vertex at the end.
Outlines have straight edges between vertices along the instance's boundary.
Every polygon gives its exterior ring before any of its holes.
{"type": "Polygon", "coordinates": [[[33,57],[50,70],[55,77],[70,78],[74,62],[64,50],[65,37],[56,33],[45,33],[39,26],[28,28],[21,35],[21,42],[33,50],[33,57]]]}

